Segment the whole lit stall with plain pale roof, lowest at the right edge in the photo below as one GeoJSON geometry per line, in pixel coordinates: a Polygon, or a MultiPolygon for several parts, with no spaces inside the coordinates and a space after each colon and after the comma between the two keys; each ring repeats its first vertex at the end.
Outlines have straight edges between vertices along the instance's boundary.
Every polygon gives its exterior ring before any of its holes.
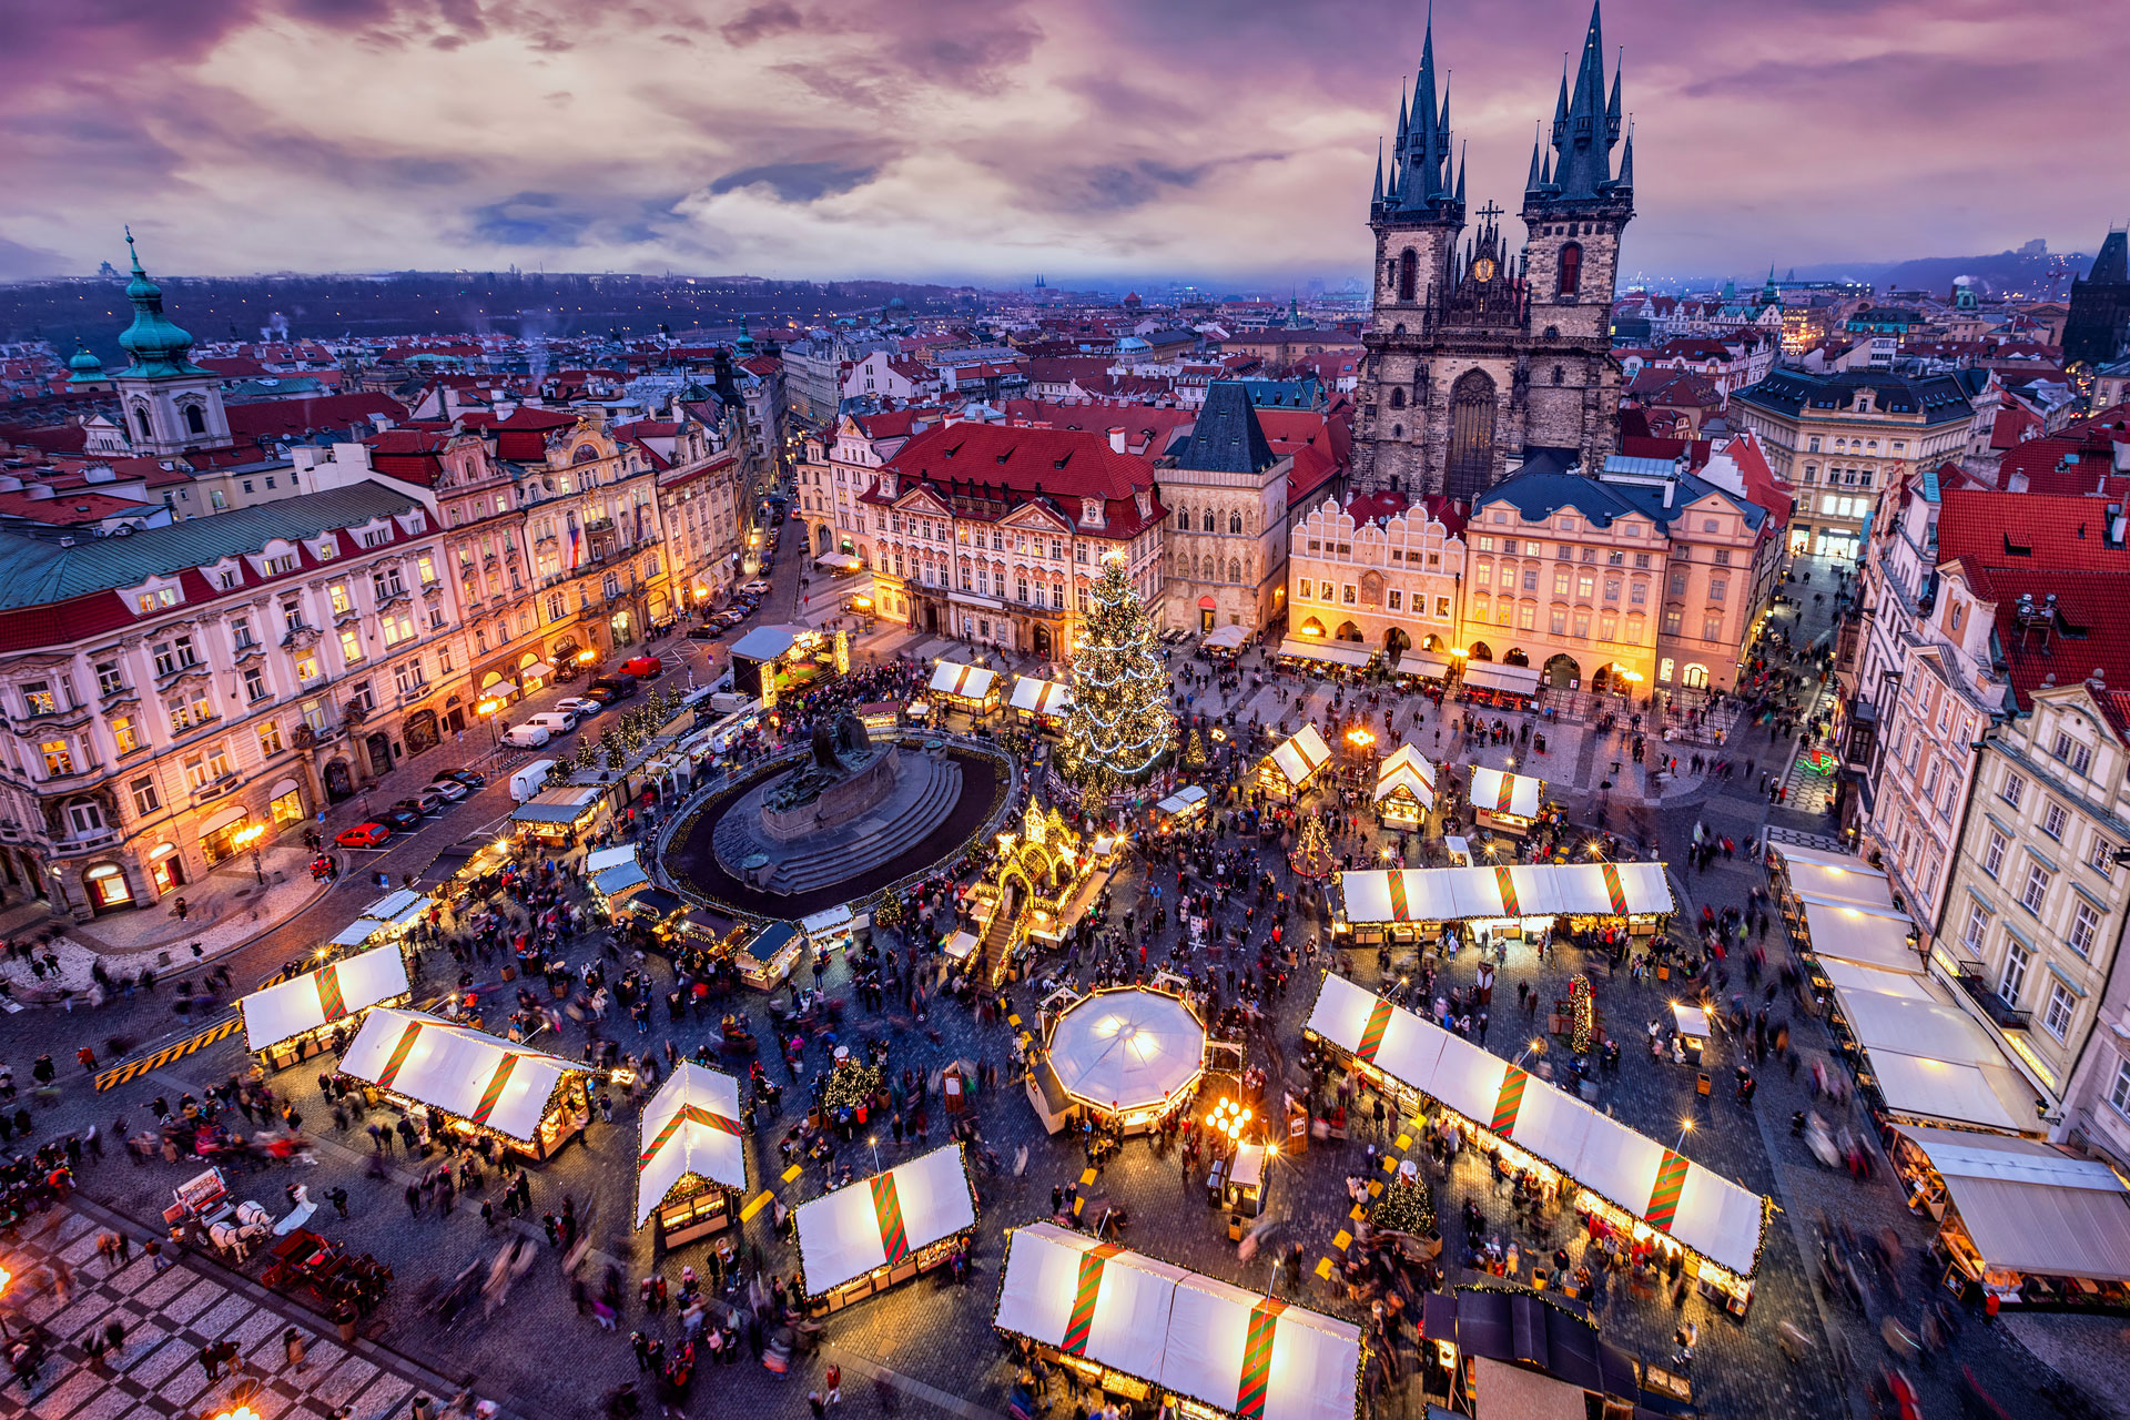
{"type": "Polygon", "coordinates": [[[2098,1158],[2036,1139],[1902,1124],[1894,1169],[1938,1222],[1940,1282],[1964,1301],[2130,1309],[2130,1190],[2098,1158]]]}

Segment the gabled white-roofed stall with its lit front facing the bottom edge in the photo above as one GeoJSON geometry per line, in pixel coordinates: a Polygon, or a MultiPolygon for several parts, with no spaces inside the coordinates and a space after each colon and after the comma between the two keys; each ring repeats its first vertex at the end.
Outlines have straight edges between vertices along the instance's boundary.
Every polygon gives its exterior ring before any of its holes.
{"type": "Polygon", "coordinates": [[[658,1220],[658,1248],[726,1228],[748,1190],[739,1081],[692,1060],[643,1107],[637,1139],[637,1226],[658,1220]]]}

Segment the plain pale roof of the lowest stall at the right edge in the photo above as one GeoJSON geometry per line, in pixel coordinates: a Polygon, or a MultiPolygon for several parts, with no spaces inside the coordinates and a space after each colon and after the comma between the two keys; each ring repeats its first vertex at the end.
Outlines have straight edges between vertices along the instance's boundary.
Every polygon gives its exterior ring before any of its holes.
{"type": "Polygon", "coordinates": [[[2130,1190],[2094,1158],[2032,1139],[1900,1126],[1960,1209],[1992,1269],[2130,1282],[2130,1190]]]}

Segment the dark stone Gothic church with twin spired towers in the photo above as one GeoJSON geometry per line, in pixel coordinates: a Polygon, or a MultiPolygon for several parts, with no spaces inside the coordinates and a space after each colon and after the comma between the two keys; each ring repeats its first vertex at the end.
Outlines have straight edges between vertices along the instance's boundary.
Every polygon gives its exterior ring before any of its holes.
{"type": "Polygon", "coordinates": [[[1521,253],[1508,249],[1502,215],[1489,202],[1463,236],[1463,166],[1453,172],[1429,30],[1410,111],[1399,100],[1389,175],[1378,158],[1370,202],[1376,298],[1355,432],[1359,490],[1470,502],[1531,449],[1570,451],[1593,470],[1615,447],[1610,313],[1619,241],[1634,219],[1634,136],[1621,132],[1617,70],[1606,96],[1595,6],[1574,85],[1561,77],[1551,141],[1531,149],[1521,253]]]}

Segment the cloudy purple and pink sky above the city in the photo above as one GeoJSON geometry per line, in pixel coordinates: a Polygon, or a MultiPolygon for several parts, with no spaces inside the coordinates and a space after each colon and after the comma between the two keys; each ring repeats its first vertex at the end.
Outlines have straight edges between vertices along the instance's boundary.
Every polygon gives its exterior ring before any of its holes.
{"type": "MultiPolygon", "coordinates": [[[[0,0],[0,279],[498,268],[1342,281],[1423,0],[0,0]]],[[[1442,0],[1514,209],[1585,0],[1442,0]]],[[[1612,0],[1627,268],[2092,251],[2119,0],[1612,0]]],[[[1512,226],[1512,234],[1521,228],[1512,226]]]]}

